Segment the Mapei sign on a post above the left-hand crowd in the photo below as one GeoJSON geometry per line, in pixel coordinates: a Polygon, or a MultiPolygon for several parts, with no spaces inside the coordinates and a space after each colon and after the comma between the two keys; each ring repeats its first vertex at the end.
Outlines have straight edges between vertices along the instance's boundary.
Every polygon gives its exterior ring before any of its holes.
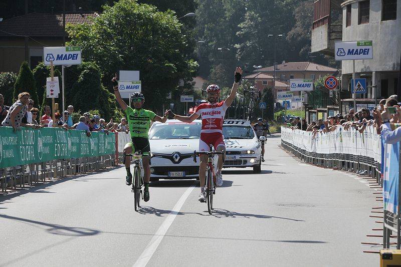
{"type": "Polygon", "coordinates": [[[81,47],[44,47],[45,65],[79,65],[81,64],[81,47]]]}

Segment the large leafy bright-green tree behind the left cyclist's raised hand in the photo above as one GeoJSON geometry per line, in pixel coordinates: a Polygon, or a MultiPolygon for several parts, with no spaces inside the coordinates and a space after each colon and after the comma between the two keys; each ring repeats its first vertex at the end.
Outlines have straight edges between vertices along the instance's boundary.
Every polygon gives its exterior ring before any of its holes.
{"type": "Polygon", "coordinates": [[[69,25],[69,45],[82,47],[85,61],[95,62],[111,90],[117,70],[139,70],[142,92],[150,107],[161,106],[179,80],[189,82],[197,63],[185,53],[188,45],[174,12],[129,0],[104,6],[93,24],[69,25]]]}

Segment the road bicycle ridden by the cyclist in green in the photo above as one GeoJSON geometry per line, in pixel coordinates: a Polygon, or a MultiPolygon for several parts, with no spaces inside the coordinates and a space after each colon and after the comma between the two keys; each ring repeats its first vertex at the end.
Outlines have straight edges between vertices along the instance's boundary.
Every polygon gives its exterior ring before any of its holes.
{"type": "Polygon", "coordinates": [[[134,172],[133,172],[133,182],[132,182],[132,192],[134,193],[134,209],[138,211],[140,208],[140,200],[143,199],[142,195],[142,187],[143,187],[143,176],[142,176],[142,154],[140,151],[137,151],[133,154],[125,154],[124,155],[124,164],[125,164],[125,156],[132,156],[134,172]]]}

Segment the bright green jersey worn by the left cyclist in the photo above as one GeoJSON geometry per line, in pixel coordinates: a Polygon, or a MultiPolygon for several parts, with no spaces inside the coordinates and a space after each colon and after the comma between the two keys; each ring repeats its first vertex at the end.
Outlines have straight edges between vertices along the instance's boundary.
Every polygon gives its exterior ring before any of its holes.
{"type": "Polygon", "coordinates": [[[125,110],[129,125],[131,137],[148,138],[150,122],[153,121],[156,114],[146,109],[132,109],[127,107],[125,110]]]}

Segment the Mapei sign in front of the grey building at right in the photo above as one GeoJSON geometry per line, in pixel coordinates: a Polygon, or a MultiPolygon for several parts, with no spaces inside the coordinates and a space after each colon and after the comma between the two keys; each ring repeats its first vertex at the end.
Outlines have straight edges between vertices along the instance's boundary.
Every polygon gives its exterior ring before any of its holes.
{"type": "Polygon", "coordinates": [[[372,41],[353,41],[335,43],[335,60],[372,59],[372,41]]]}

